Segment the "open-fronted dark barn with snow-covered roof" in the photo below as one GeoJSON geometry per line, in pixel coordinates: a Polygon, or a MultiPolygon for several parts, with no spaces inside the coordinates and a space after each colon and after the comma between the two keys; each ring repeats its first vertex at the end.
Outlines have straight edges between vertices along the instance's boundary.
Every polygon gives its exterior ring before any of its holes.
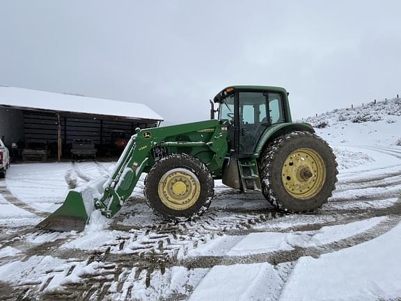
{"type": "Polygon", "coordinates": [[[31,148],[49,160],[70,159],[77,144],[92,144],[97,157],[116,156],[136,128],[162,121],[139,103],[0,86],[0,138],[14,160],[31,148]]]}

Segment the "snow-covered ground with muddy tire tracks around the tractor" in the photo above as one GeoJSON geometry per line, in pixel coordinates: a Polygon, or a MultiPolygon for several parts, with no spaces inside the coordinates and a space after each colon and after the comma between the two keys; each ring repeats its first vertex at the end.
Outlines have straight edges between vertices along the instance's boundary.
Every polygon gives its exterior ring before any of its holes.
{"type": "Polygon", "coordinates": [[[340,171],[315,213],[276,213],[216,181],[202,217],[172,224],[144,203],[142,178],[113,219],[41,231],[33,225],[69,188],[113,163],[13,165],[0,180],[0,300],[399,300],[401,120],[352,123],[338,111],[309,121],[331,123],[317,132],[340,171]]]}

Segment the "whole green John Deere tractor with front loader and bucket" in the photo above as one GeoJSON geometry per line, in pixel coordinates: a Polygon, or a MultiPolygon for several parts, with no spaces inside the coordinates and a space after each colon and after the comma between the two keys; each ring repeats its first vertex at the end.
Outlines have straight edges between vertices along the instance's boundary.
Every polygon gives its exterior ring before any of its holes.
{"type": "Polygon", "coordinates": [[[138,130],[109,178],[70,191],[38,226],[81,231],[95,209],[113,217],[142,173],[148,173],[146,202],[171,221],[204,213],[214,179],[241,192],[262,192],[291,213],[327,202],[337,180],[336,157],[311,125],[292,123],[284,88],[230,86],[210,102],[210,121],[138,130]]]}

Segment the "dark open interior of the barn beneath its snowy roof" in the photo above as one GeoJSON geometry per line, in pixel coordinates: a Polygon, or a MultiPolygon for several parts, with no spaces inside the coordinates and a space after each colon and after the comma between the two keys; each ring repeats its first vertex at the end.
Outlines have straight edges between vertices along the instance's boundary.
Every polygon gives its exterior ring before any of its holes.
{"type": "MultiPolygon", "coordinates": [[[[115,157],[123,151],[116,139],[127,140],[136,128],[153,128],[155,120],[121,118],[79,113],[52,112],[28,109],[11,109],[0,105],[0,116],[9,115],[10,125],[0,127],[4,143],[10,149],[13,160],[22,160],[25,148],[46,148],[47,158],[58,157],[58,141],[61,140],[61,159],[72,157],[72,145],[77,141],[93,141],[97,157],[115,157]],[[22,128],[21,128],[22,125],[22,128]],[[10,129],[11,128],[11,129],[10,129]],[[15,146],[17,144],[17,148],[15,146]]],[[[123,143],[124,144],[124,143],[123,143]]]]}

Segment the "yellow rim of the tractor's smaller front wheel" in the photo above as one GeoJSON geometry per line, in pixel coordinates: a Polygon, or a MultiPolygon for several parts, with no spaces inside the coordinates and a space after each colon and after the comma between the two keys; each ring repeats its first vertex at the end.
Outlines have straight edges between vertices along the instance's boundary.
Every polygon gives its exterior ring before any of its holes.
{"type": "Polygon", "coordinates": [[[168,208],[186,210],[198,201],[201,184],[193,172],[187,169],[171,169],[160,179],[157,192],[168,208]]]}

